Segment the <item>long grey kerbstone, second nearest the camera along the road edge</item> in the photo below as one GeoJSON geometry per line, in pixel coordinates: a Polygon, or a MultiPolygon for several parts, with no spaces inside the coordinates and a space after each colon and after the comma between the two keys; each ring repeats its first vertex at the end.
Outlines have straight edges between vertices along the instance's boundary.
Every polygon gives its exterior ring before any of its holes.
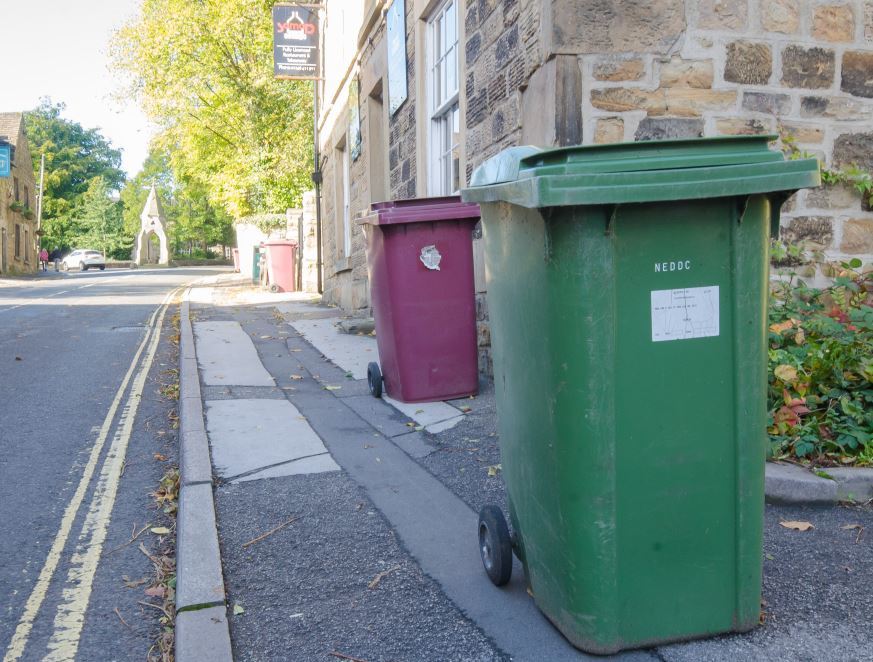
{"type": "Polygon", "coordinates": [[[176,524],[176,611],[224,602],[212,485],[184,485],[176,524]]]}

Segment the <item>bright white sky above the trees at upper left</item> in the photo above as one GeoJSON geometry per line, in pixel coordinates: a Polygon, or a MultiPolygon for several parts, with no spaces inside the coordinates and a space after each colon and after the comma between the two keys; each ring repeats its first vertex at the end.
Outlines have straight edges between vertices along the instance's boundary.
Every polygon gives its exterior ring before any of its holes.
{"type": "Polygon", "coordinates": [[[135,175],[154,128],[134,101],[113,98],[121,81],[109,70],[112,32],[140,0],[0,0],[0,112],[30,110],[41,97],[67,105],[63,117],[98,128],[122,150],[135,175]]]}

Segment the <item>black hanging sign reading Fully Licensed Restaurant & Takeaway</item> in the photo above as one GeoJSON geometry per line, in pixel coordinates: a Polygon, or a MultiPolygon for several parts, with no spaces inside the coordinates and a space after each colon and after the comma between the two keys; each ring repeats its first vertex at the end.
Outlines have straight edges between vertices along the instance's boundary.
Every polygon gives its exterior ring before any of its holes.
{"type": "Polygon", "coordinates": [[[319,5],[273,5],[273,74],[318,78],[319,5]]]}

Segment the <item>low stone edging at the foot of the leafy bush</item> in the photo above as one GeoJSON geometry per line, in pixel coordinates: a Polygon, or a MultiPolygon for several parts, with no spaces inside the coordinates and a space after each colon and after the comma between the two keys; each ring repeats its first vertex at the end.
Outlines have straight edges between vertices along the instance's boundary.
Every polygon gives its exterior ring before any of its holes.
{"type": "Polygon", "coordinates": [[[768,502],[834,504],[873,499],[873,468],[822,468],[830,478],[794,464],[768,462],[764,492],[768,502]]]}

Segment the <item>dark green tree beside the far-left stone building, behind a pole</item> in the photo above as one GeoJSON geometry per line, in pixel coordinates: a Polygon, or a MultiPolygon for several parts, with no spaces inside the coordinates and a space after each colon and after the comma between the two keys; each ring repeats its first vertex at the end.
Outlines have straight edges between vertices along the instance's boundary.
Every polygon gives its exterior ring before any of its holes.
{"type": "Polygon", "coordinates": [[[116,191],[124,182],[121,152],[97,130],[61,117],[64,104],[42,99],[24,116],[24,126],[39,181],[40,155],[45,155],[43,193],[44,245],[72,247],[79,241],[73,215],[95,177],[116,191]]]}

